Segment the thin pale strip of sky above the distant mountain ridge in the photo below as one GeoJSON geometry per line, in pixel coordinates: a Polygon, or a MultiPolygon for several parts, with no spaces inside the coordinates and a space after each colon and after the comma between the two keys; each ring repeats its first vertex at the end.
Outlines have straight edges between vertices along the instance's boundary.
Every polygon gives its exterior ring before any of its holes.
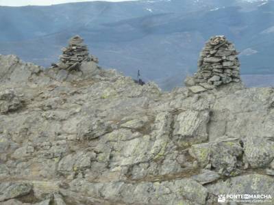
{"type": "MultiPolygon", "coordinates": [[[[82,2],[85,0],[0,0],[0,5],[51,5],[57,3],[82,2]]],[[[86,0],[87,1],[87,0],[86,0]]],[[[95,1],[95,0],[89,0],[95,1]]],[[[130,0],[107,0],[107,1],[130,1],[130,0]]]]}

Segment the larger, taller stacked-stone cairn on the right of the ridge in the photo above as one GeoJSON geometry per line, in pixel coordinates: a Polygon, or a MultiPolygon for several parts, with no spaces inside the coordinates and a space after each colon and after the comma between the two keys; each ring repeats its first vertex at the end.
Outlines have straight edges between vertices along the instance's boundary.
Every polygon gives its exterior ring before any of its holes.
{"type": "Polygon", "coordinates": [[[240,82],[240,63],[234,44],[225,36],[214,36],[200,53],[198,70],[185,84],[194,92],[214,89],[219,85],[240,82]]]}

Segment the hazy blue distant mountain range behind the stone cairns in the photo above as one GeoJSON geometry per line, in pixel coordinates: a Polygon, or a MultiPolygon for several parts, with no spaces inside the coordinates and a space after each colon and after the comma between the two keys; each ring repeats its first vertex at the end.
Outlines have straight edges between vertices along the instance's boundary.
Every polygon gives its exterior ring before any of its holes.
{"type": "Polygon", "coordinates": [[[169,90],[197,70],[199,51],[210,36],[225,35],[242,52],[242,74],[249,85],[259,85],[260,78],[254,75],[274,74],[274,1],[270,0],[1,6],[0,19],[0,53],[45,67],[58,61],[60,49],[79,34],[101,66],[132,77],[140,70],[142,79],[169,90]]]}

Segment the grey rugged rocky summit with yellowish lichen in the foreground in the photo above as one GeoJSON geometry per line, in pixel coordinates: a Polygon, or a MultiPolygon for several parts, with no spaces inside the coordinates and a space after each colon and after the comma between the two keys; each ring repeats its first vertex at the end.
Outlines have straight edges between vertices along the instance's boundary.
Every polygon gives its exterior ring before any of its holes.
{"type": "Polygon", "coordinates": [[[197,93],[141,86],[95,61],[79,74],[0,55],[0,204],[273,204],[274,89],[226,83],[238,59],[215,40],[195,83],[220,72],[197,93]]]}

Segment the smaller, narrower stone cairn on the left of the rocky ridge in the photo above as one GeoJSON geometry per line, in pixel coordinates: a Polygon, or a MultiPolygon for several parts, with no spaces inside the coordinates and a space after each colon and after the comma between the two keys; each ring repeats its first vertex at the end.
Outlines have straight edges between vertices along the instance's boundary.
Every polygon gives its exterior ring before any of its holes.
{"type": "Polygon", "coordinates": [[[89,55],[88,46],[83,44],[84,40],[80,36],[73,36],[69,40],[69,46],[62,49],[60,61],[57,64],[51,64],[53,68],[60,68],[68,71],[79,71],[82,61],[95,61],[98,64],[98,58],[89,55]]]}

